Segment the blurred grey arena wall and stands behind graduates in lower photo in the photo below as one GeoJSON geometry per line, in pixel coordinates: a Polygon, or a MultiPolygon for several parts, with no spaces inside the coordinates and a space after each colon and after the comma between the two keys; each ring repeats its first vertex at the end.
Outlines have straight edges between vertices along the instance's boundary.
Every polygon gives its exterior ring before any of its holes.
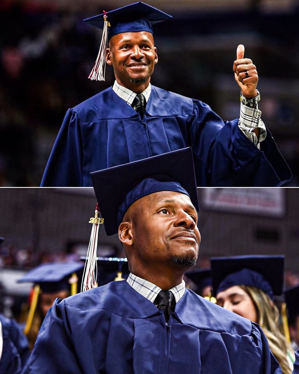
{"type": "MultiPolygon", "coordinates": [[[[299,284],[298,188],[198,188],[201,245],[210,257],[283,254],[286,288],[299,284]]],[[[19,318],[30,284],[16,280],[41,263],[86,255],[96,198],[93,188],[0,189],[0,312],[19,318]]],[[[123,257],[117,235],[100,225],[98,256],[123,257]]]]}

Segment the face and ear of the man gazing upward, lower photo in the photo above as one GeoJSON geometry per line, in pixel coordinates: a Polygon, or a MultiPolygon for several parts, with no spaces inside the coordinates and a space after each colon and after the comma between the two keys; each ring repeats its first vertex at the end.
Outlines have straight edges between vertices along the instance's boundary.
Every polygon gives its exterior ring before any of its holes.
{"type": "Polygon", "coordinates": [[[183,193],[161,191],[137,200],[124,215],[119,236],[132,272],[182,269],[198,257],[197,212],[183,193]]]}

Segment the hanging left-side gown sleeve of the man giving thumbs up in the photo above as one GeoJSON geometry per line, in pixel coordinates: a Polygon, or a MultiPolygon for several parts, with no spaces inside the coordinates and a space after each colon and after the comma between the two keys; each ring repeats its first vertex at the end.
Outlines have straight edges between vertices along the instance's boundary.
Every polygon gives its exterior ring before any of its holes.
{"type": "Polygon", "coordinates": [[[82,137],[77,113],[65,114],[41,180],[41,187],[82,187],[82,137]]]}

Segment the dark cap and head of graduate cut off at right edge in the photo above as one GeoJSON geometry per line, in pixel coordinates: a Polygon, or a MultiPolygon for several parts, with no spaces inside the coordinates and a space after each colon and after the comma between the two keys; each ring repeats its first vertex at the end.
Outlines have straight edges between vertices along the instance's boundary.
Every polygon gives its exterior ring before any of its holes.
{"type": "Polygon", "coordinates": [[[287,304],[290,339],[293,350],[299,349],[299,286],[284,292],[287,304]]]}

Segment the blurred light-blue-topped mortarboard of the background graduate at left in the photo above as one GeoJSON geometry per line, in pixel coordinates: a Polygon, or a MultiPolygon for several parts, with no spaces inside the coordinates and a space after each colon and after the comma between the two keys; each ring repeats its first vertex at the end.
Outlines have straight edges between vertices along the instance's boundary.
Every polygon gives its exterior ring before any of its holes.
{"type": "Polygon", "coordinates": [[[47,293],[69,290],[69,278],[83,267],[81,262],[42,264],[30,270],[18,282],[33,282],[47,293]]]}

